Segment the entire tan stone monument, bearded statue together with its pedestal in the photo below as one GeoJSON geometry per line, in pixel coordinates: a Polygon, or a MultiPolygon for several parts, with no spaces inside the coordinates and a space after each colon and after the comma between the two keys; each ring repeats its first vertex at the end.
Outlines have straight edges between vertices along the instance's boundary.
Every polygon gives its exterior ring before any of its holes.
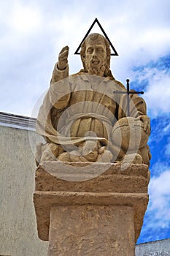
{"type": "Polygon", "coordinates": [[[34,206],[49,256],[134,256],[148,203],[150,118],[128,80],[125,90],[113,78],[110,53],[105,37],[88,35],[83,69],[69,76],[64,47],[39,109],[36,132],[47,143],[36,145],[34,206]]]}

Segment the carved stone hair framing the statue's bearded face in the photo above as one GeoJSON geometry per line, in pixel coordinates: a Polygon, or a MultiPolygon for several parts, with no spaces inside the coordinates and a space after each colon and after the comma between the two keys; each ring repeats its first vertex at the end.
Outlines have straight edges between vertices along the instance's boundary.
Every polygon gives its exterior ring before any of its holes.
{"type": "Polygon", "coordinates": [[[82,64],[83,64],[83,67],[84,69],[81,69],[80,72],[88,72],[86,66],[85,66],[85,49],[86,49],[86,42],[87,42],[87,39],[90,38],[92,40],[96,40],[98,37],[102,37],[104,39],[104,42],[105,42],[105,45],[106,45],[106,50],[107,50],[107,64],[106,64],[106,68],[104,70],[104,77],[111,77],[113,78],[112,76],[112,72],[111,70],[109,69],[110,67],[110,53],[111,53],[111,50],[109,48],[109,41],[103,37],[101,34],[98,34],[98,33],[93,33],[93,34],[90,34],[83,42],[82,42],[82,45],[81,45],[81,50],[80,50],[80,56],[81,56],[81,59],[82,59],[82,64]]]}

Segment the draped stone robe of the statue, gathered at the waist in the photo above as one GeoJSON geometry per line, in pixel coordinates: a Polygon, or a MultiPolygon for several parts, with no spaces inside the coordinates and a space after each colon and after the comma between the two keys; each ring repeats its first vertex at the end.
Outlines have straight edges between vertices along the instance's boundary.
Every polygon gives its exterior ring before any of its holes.
{"type": "MultiPolygon", "coordinates": [[[[125,117],[127,96],[113,92],[125,91],[124,86],[116,80],[87,73],[68,75],[68,67],[60,71],[55,64],[50,89],[39,110],[36,132],[48,143],[67,146],[67,150],[70,146],[70,151],[72,145],[80,145],[87,138],[97,137],[101,145],[114,146],[112,128],[125,117]]],[[[144,99],[131,94],[130,109],[134,118],[146,115],[144,99]]]]}

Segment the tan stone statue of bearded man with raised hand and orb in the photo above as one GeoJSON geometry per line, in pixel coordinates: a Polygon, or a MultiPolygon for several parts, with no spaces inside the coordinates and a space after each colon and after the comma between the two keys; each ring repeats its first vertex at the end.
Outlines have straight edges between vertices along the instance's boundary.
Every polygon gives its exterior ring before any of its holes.
{"type": "Polygon", "coordinates": [[[69,76],[69,47],[59,53],[50,89],[39,110],[36,132],[47,143],[36,146],[42,161],[150,163],[147,140],[150,118],[144,99],[130,94],[131,115],[126,116],[127,95],[110,66],[108,40],[90,34],[81,45],[83,69],[69,76]]]}

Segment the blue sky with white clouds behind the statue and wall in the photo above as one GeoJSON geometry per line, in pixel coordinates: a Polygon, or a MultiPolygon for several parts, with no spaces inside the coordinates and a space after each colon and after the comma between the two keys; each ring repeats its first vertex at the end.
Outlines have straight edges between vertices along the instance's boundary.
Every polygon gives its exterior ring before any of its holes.
{"type": "MultiPolygon", "coordinates": [[[[117,80],[144,91],[150,135],[150,203],[138,242],[170,238],[170,1],[6,0],[0,3],[0,111],[31,116],[47,90],[58,53],[69,45],[70,74],[82,68],[74,55],[95,18],[119,56],[117,80]]],[[[98,26],[93,32],[101,33],[98,26]]]]}

